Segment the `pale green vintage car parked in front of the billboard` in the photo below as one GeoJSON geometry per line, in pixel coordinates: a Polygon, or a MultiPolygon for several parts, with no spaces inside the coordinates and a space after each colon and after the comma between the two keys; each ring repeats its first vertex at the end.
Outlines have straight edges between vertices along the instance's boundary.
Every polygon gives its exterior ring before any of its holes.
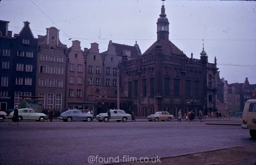
{"type": "MultiPolygon", "coordinates": [[[[36,120],[36,121],[44,121],[46,119],[46,115],[44,113],[36,113],[33,109],[23,108],[18,109],[19,113],[19,121],[22,120],[36,120]]],[[[9,118],[12,118],[14,111],[9,114],[9,118]]]]}

